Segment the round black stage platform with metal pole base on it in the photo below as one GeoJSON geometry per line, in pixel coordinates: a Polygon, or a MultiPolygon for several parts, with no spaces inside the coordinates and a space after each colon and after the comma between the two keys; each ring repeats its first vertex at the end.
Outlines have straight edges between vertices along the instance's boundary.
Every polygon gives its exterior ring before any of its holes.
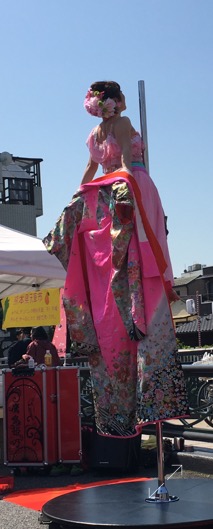
{"type": "Polygon", "coordinates": [[[213,528],[213,480],[171,479],[166,481],[170,496],[179,501],[147,503],[158,487],[157,479],[93,486],[63,494],[42,508],[51,529],[75,527],[100,529],[213,528]]]}

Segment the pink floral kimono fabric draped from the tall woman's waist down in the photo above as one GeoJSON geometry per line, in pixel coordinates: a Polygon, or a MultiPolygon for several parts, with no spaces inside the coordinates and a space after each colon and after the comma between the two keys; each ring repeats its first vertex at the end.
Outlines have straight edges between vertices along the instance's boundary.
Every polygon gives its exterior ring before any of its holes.
{"type": "Polygon", "coordinates": [[[44,243],[67,270],[67,324],[88,345],[97,431],[133,436],[186,416],[166,262],[134,179],[82,186],[44,243]]]}

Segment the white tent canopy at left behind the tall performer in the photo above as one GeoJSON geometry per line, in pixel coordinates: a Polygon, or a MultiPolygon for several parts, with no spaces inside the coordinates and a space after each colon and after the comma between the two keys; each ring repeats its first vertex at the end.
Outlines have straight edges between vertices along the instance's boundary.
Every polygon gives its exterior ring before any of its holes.
{"type": "Polygon", "coordinates": [[[64,286],[66,272],[41,239],[0,225],[0,299],[64,286]]]}

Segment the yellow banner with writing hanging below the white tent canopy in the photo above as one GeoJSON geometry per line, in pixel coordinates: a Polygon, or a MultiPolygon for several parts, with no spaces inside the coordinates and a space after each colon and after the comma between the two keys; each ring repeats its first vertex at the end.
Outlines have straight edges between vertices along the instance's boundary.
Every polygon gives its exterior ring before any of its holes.
{"type": "Polygon", "coordinates": [[[60,323],[60,289],[49,288],[15,294],[1,300],[2,329],[38,327],[60,323]]]}

